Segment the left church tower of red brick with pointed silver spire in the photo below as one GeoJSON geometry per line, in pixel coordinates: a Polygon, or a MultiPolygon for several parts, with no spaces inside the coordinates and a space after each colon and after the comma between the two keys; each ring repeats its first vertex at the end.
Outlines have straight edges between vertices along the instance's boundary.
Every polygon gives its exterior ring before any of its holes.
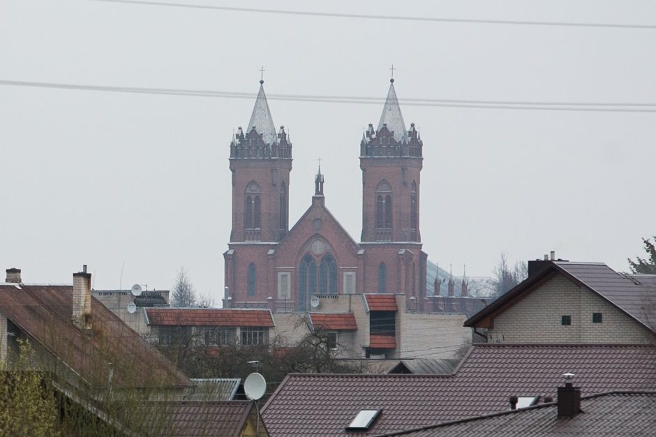
{"type": "Polygon", "coordinates": [[[289,229],[292,144],[284,126],[276,132],[263,84],[246,130],[230,142],[230,242],[279,242],[289,229]]]}

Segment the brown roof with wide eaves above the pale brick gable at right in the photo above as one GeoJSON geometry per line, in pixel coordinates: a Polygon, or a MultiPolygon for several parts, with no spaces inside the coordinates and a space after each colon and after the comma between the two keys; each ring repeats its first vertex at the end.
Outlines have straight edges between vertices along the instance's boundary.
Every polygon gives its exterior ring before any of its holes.
{"type": "Polygon", "coordinates": [[[465,321],[465,326],[487,325],[486,320],[505,311],[516,299],[521,299],[525,293],[531,292],[553,274],[562,274],[592,290],[638,323],[653,332],[656,331],[656,275],[620,274],[599,262],[569,261],[549,262],[542,271],[526,279],[465,321]]]}

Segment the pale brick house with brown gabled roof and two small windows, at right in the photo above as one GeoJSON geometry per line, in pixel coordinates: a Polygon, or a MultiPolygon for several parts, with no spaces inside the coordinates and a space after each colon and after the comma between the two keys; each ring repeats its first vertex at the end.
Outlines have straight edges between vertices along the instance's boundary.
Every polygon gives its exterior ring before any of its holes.
{"type": "Polygon", "coordinates": [[[465,326],[490,342],[651,344],[656,275],[618,273],[599,262],[530,261],[528,279],[465,326]]]}

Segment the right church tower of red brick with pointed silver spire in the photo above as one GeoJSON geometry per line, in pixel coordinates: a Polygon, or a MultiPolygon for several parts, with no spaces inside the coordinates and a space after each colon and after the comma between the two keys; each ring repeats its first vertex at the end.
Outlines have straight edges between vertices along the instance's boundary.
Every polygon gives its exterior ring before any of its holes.
{"type": "Polygon", "coordinates": [[[362,242],[421,242],[419,173],[422,140],[405,128],[394,79],[389,80],[378,128],[369,124],[360,142],[362,242]]]}

